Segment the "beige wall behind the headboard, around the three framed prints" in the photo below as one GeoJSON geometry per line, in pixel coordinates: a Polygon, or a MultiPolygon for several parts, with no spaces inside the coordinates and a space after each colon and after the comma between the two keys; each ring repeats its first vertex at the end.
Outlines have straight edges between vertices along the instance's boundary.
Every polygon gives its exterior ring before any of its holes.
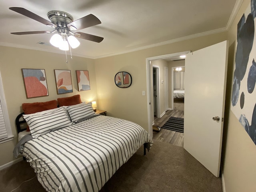
{"type": "Polygon", "coordinates": [[[64,54],[0,46],[0,72],[12,133],[15,136],[14,140],[0,144],[0,166],[14,160],[12,150],[17,143],[14,121],[16,116],[22,112],[22,103],[45,102],[75,94],[80,94],[82,101],[97,101],[94,60],[92,59],[73,56],[73,60],[71,60],[68,56],[68,64],[66,64],[64,54]],[[21,68],[45,69],[49,96],[27,99],[21,68]],[[54,69],[71,70],[73,93],[57,94],[54,69]],[[89,71],[91,90],[78,92],[75,70],[89,71]]]}

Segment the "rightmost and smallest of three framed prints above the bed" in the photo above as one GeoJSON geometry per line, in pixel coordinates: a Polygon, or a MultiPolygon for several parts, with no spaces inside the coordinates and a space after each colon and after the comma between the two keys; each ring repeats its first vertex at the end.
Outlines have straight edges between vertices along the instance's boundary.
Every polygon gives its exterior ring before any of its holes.
{"type": "Polygon", "coordinates": [[[76,71],[78,91],[90,90],[90,79],[88,71],[76,71]]]}

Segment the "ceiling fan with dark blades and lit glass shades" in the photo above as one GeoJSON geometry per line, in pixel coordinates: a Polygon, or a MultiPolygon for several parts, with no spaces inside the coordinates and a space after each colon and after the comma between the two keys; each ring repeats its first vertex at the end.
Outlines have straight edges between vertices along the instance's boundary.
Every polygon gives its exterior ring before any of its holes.
{"type": "Polygon", "coordinates": [[[101,42],[103,37],[83,33],[83,32],[73,32],[74,30],[81,30],[87,27],[101,24],[100,20],[93,14],[84,16],[78,20],[73,20],[73,17],[63,11],[50,11],[47,13],[47,16],[50,21],[26,10],[22,7],[10,7],[10,10],[13,10],[17,13],[20,13],[24,16],[27,16],[31,19],[34,19],[42,24],[54,28],[53,31],[28,31],[28,32],[14,32],[11,34],[15,35],[26,35],[26,34],[54,34],[50,39],[50,43],[53,46],[60,48],[61,50],[69,50],[71,48],[76,48],[80,45],[80,42],[76,39],[85,39],[93,42],[101,42]]]}

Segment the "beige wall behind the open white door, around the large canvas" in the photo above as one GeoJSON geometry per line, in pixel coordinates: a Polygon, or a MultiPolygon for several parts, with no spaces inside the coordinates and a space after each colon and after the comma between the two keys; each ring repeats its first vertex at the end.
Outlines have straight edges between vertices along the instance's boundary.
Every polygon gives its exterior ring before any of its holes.
{"type": "MultiPolygon", "coordinates": [[[[225,110],[226,121],[224,122],[222,148],[222,169],[226,192],[256,191],[256,145],[230,110],[237,24],[249,5],[250,0],[243,1],[236,19],[228,31],[230,47],[225,110]]],[[[252,104],[253,102],[255,100],[252,101],[252,104]]]]}

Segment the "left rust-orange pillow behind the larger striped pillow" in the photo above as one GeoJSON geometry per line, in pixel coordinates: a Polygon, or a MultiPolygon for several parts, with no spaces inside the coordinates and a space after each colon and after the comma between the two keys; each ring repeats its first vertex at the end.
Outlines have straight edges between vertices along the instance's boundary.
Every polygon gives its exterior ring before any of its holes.
{"type": "Polygon", "coordinates": [[[49,109],[54,109],[58,107],[58,102],[56,100],[47,102],[36,102],[36,103],[22,103],[22,109],[25,114],[32,114],[36,112],[41,112],[49,109]]]}

